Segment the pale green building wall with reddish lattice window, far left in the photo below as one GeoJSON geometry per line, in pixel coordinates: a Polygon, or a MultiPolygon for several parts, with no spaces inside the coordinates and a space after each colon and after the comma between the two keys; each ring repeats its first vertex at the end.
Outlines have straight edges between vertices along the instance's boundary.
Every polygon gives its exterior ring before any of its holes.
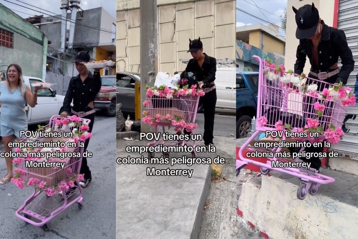
{"type": "MultiPolygon", "coordinates": [[[[0,4],[0,28],[13,33],[13,48],[0,46],[0,65],[19,64],[23,75],[44,78],[47,37],[28,21],[0,4]]],[[[6,71],[6,66],[0,68],[6,71]]]]}

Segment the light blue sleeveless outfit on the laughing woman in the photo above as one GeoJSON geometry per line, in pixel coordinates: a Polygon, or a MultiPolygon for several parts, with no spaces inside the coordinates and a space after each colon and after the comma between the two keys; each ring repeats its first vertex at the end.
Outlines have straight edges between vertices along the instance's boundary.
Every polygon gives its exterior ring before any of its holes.
{"type": "MultiPolygon", "coordinates": [[[[25,89],[26,84],[23,86],[23,95],[19,89],[8,89],[4,84],[4,81],[0,82],[0,136],[6,137],[15,135],[20,138],[20,130],[28,130],[28,122],[25,111],[25,89]]],[[[23,137],[25,136],[23,135],[23,137]]]]}

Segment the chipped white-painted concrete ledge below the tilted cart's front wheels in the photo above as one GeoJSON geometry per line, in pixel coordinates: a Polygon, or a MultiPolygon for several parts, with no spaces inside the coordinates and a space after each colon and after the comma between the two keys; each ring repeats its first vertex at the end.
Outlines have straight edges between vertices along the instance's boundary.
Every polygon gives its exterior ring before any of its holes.
{"type": "Polygon", "coordinates": [[[265,239],[343,239],[355,235],[352,222],[358,220],[357,207],[319,192],[298,200],[297,188],[275,176],[248,179],[242,184],[237,215],[265,239]]]}

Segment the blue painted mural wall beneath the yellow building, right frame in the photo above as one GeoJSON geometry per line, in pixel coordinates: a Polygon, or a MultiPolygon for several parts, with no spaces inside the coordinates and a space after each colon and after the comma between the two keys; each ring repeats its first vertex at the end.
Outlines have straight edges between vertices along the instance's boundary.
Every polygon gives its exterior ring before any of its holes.
{"type": "Polygon", "coordinates": [[[285,58],[262,51],[260,48],[251,46],[250,44],[242,42],[241,40],[236,40],[236,59],[245,61],[245,63],[247,63],[248,69],[252,68],[253,65],[258,65],[257,61],[252,58],[253,56],[258,56],[262,59],[269,57],[275,64],[285,64],[285,58]]]}

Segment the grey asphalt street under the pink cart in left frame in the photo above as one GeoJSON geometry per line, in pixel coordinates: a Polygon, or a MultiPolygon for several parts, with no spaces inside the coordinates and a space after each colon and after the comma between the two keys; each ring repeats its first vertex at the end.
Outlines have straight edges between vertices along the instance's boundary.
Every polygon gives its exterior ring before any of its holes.
{"type": "MultiPolygon", "coordinates": [[[[15,216],[15,211],[33,193],[32,188],[19,189],[12,182],[0,185],[1,220],[0,238],[29,239],[98,239],[115,238],[116,232],[116,118],[96,113],[87,158],[92,171],[92,182],[83,189],[84,205],[77,204],[61,212],[49,223],[49,231],[26,224],[15,216]]],[[[34,128],[34,127],[31,127],[34,128]]],[[[0,150],[4,145],[0,141],[0,150]]],[[[5,159],[0,159],[0,176],[6,174],[5,159]]],[[[53,197],[58,197],[57,195],[53,197]]]]}

